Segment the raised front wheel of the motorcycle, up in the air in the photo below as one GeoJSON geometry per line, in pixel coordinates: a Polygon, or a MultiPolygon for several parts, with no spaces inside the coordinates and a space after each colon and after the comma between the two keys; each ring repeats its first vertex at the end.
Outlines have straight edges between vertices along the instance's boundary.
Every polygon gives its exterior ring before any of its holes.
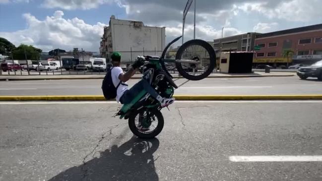
{"type": "Polygon", "coordinates": [[[183,77],[201,80],[215,68],[216,54],[207,42],[190,40],[179,48],[176,60],[195,60],[196,63],[176,62],[176,67],[183,77]]]}

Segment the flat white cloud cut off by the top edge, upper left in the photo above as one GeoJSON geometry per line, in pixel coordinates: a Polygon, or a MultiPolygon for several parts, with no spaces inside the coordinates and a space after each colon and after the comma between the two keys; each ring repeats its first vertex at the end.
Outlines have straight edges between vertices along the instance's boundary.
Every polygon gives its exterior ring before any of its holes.
{"type": "Polygon", "coordinates": [[[44,0],[42,6],[61,9],[92,9],[114,0],[44,0]]]}

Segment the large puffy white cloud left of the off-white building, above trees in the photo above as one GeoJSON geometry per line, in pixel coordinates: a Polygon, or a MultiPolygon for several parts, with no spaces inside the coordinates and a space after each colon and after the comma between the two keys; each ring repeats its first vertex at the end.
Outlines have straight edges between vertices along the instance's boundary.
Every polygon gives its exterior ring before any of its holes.
{"type": "Polygon", "coordinates": [[[27,28],[15,32],[0,32],[0,36],[8,39],[13,44],[34,45],[43,51],[55,48],[66,51],[72,48],[83,48],[87,51],[99,51],[100,38],[103,35],[103,23],[95,25],[86,24],[77,17],[64,19],[63,11],[55,11],[53,16],[45,20],[38,20],[35,16],[23,14],[27,28]]]}

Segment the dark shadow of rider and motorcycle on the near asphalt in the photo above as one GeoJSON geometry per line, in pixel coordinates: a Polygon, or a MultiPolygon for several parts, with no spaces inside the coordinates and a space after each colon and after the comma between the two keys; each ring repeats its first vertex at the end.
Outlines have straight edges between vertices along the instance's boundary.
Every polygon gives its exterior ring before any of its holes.
{"type": "Polygon", "coordinates": [[[158,181],[153,153],[159,147],[157,138],[142,140],[133,136],[120,147],[100,152],[78,167],[71,167],[49,181],[158,181]]]}

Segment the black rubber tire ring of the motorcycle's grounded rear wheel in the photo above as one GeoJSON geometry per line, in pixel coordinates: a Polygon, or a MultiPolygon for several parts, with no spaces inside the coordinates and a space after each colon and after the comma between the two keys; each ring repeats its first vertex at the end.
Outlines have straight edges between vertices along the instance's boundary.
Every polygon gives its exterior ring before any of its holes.
{"type": "Polygon", "coordinates": [[[158,119],[158,125],[156,126],[156,128],[150,132],[150,133],[142,133],[140,132],[136,125],[135,125],[135,117],[140,114],[141,112],[144,111],[143,109],[140,109],[136,112],[133,112],[129,115],[129,129],[132,131],[132,133],[134,135],[136,135],[139,138],[143,138],[143,139],[151,139],[154,138],[155,136],[157,136],[163,129],[163,125],[164,125],[164,120],[163,120],[163,116],[162,113],[157,110],[157,109],[148,109],[148,111],[150,112],[150,114],[153,114],[156,116],[156,118],[158,119]]]}

